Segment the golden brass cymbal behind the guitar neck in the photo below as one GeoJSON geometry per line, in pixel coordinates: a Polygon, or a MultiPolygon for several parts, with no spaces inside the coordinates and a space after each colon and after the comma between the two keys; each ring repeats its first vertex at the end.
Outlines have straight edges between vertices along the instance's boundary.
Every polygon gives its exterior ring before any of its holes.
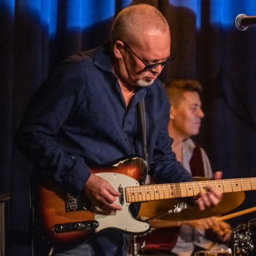
{"type": "MultiPolygon", "coordinates": [[[[196,177],[196,180],[207,179],[204,177],[196,177]]],[[[141,218],[143,216],[143,219],[157,218],[161,220],[196,220],[208,218],[232,211],[242,204],[244,197],[243,191],[224,193],[218,205],[206,208],[204,211],[200,211],[197,205],[187,205],[185,209],[183,209],[184,207],[180,207],[181,211],[177,211],[176,207],[176,212],[170,211],[175,209],[175,206],[179,208],[179,204],[182,205],[183,201],[180,199],[149,201],[141,204],[139,216],[141,218]],[[170,213],[168,213],[168,211],[170,211],[170,213]]]]}

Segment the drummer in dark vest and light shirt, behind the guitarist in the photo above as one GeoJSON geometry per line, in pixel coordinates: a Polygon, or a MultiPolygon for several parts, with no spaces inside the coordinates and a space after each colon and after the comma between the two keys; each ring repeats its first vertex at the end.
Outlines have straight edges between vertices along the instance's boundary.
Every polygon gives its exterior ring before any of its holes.
{"type": "MultiPolygon", "coordinates": [[[[199,133],[204,112],[201,109],[201,84],[194,80],[172,80],[166,85],[171,103],[168,132],[173,138],[171,148],[185,169],[197,177],[213,178],[211,164],[204,149],[190,138],[199,133]]],[[[220,173],[218,173],[220,175],[220,173]]],[[[180,226],[178,239],[171,253],[178,256],[190,256],[193,251],[227,249],[222,242],[231,236],[228,223],[218,222],[216,217],[200,220],[152,220],[153,228],[180,226]],[[205,237],[205,230],[211,229],[219,242],[205,237]]]]}

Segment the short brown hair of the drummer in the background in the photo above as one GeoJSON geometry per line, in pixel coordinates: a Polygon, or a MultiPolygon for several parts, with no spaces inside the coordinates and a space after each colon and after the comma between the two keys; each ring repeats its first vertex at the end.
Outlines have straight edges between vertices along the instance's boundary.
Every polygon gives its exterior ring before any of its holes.
{"type": "Polygon", "coordinates": [[[196,80],[173,79],[166,83],[166,90],[171,105],[177,107],[183,99],[184,92],[197,92],[201,94],[202,85],[196,80]]]}

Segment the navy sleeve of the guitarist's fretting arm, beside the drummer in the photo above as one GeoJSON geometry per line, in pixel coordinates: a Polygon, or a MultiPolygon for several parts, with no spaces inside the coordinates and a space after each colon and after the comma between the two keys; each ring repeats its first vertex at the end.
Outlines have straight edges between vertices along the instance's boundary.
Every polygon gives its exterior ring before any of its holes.
{"type": "Polygon", "coordinates": [[[193,181],[191,175],[183,168],[175,158],[171,150],[173,140],[168,135],[169,109],[167,97],[164,102],[163,118],[161,120],[156,143],[154,145],[149,174],[156,183],[180,183],[193,181]]]}

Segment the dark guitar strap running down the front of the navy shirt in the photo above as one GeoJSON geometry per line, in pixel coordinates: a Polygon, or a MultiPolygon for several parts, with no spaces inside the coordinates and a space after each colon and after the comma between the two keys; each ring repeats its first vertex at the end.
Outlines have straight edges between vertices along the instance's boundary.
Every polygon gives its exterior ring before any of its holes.
{"type": "Polygon", "coordinates": [[[146,112],[145,112],[145,100],[144,98],[139,102],[139,111],[140,111],[140,123],[142,128],[142,137],[143,137],[143,149],[144,156],[147,162],[147,171],[142,179],[142,185],[145,184],[145,180],[147,178],[147,174],[149,173],[149,162],[148,162],[148,150],[147,150],[147,128],[146,128],[146,112]]]}

